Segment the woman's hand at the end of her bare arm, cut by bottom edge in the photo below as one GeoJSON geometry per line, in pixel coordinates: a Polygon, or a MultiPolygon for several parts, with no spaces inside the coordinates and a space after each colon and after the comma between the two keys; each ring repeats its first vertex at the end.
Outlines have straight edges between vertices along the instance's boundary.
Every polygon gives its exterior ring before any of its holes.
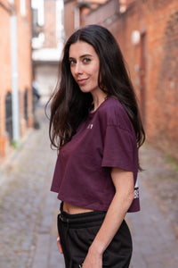
{"type": "Polygon", "coordinates": [[[102,268],[102,255],[88,251],[82,268],[102,268]]]}

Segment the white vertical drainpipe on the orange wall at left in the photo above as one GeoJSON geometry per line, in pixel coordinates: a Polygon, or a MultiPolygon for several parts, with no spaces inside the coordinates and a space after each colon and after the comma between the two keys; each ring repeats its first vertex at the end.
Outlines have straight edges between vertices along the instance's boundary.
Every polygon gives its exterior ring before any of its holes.
{"type": "Polygon", "coordinates": [[[14,9],[14,1],[8,0],[12,6],[10,16],[11,31],[11,63],[12,63],[12,130],[13,142],[18,144],[20,139],[20,104],[19,104],[19,72],[18,72],[18,44],[17,44],[17,15],[14,9]]]}

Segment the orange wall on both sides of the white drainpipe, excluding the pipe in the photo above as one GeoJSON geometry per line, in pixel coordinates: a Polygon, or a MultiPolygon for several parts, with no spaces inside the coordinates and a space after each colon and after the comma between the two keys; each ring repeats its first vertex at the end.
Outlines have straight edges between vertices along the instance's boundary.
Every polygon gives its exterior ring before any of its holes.
{"type": "MultiPolygon", "coordinates": [[[[11,9],[8,1],[0,6],[0,158],[4,157],[10,146],[10,135],[6,128],[5,97],[12,92],[12,63],[11,63],[11,9]]],[[[32,89],[31,89],[31,12],[30,1],[26,1],[26,16],[20,14],[20,0],[15,1],[17,15],[18,39],[18,84],[20,95],[20,137],[33,124],[32,89]],[[28,89],[28,121],[25,120],[25,90],[28,89]]]]}

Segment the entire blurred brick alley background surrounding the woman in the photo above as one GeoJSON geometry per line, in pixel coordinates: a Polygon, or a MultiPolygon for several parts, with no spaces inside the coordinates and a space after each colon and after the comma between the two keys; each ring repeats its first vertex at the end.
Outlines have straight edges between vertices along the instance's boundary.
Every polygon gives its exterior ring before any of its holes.
{"type": "Polygon", "coordinates": [[[0,0],[0,267],[64,267],[54,245],[59,205],[49,189],[56,152],[44,105],[65,41],[88,24],[117,39],[146,130],[142,213],[128,216],[136,245],[131,267],[175,268],[177,0],[0,0]]]}

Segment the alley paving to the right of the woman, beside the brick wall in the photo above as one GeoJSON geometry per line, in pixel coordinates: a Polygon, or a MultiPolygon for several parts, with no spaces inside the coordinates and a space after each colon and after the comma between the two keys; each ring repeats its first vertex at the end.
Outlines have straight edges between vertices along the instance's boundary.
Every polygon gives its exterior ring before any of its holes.
{"type": "Polygon", "coordinates": [[[178,165],[150,147],[141,150],[141,212],[127,218],[134,240],[133,268],[178,267],[178,165]]]}

